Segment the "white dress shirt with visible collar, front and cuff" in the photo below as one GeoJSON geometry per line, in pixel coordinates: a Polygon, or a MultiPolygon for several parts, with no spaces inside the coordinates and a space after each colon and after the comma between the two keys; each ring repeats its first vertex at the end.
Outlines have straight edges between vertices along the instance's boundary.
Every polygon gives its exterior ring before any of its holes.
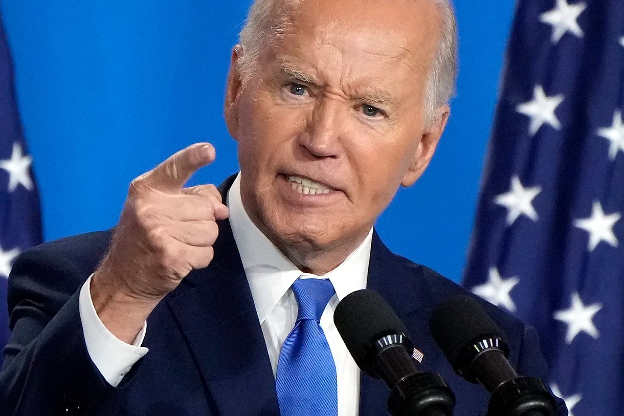
{"type": "MultiPolygon", "coordinates": [[[[227,200],[232,233],[250,285],[275,376],[281,346],[295,327],[297,319],[298,306],[291,285],[299,277],[314,279],[319,276],[306,274],[297,269],[251,222],[240,196],[240,174],[232,184],[227,200]]],[[[351,292],[366,288],[372,239],[371,229],[364,242],[342,264],[328,274],[320,276],[329,279],[336,290],[336,294],[329,300],[321,316],[321,329],[336,364],[338,416],[358,414],[360,373],[338,334],[333,315],[341,299],[351,292]]],[[[148,352],[147,348],[140,347],[147,323],[133,345],[117,339],[97,317],[90,297],[89,284],[90,278],[80,290],[79,299],[80,320],[87,350],[107,382],[117,386],[132,365],[148,352]]]]}

